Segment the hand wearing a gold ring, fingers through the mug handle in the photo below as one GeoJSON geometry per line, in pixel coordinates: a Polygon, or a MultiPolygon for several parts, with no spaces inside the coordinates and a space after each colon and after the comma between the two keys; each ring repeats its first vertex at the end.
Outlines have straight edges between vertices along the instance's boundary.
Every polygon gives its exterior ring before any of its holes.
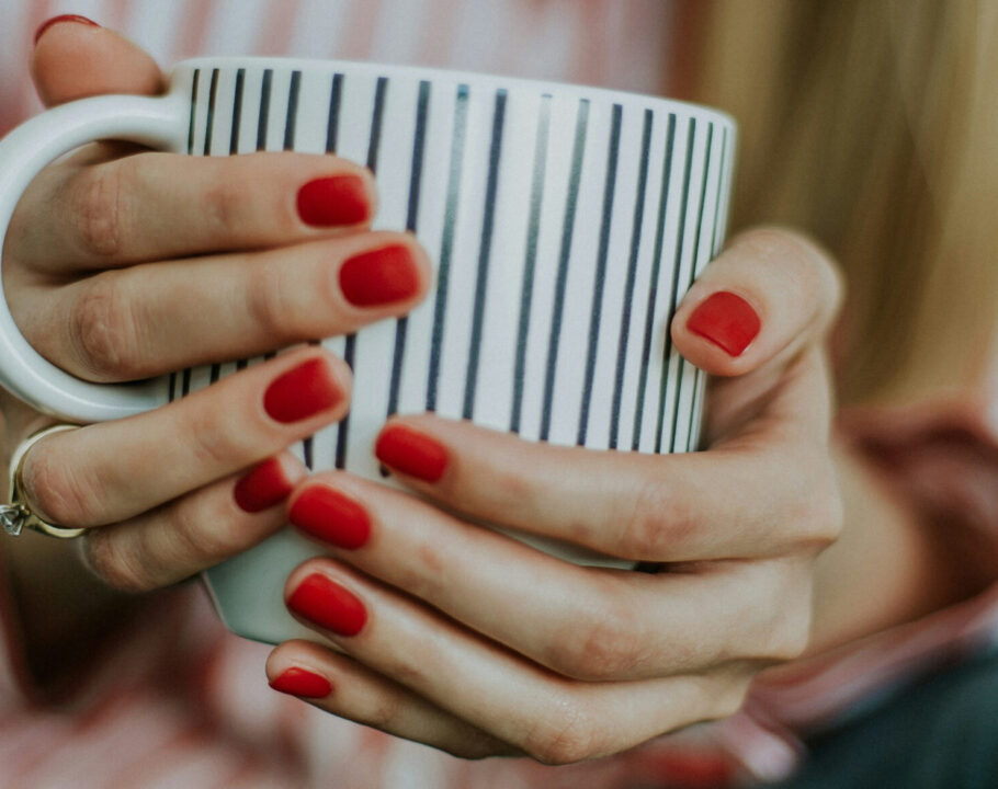
{"type": "MultiPolygon", "coordinates": [[[[32,62],[54,105],[162,89],[152,59],[101,27],[45,30],[32,62]]],[[[63,369],[125,381],[344,334],[409,310],[429,263],[374,232],[374,183],[331,156],[195,158],[94,145],[47,168],[19,204],[3,284],[27,341],[63,369]]],[[[110,586],[171,584],[284,523],[305,473],[287,447],[347,412],[350,370],[318,347],[282,354],[161,409],[58,433],[24,461],[45,521],[83,527],[110,586]]],[[[3,393],[4,450],[50,418],[3,393]]]]}

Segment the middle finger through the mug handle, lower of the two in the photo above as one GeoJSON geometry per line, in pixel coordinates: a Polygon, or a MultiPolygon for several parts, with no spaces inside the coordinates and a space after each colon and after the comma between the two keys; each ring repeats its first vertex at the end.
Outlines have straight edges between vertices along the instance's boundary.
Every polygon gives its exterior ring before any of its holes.
{"type": "Polygon", "coordinates": [[[415,237],[365,232],[103,272],[55,293],[26,287],[14,315],[63,369],[135,380],[355,331],[408,311],[430,278],[415,237]]]}

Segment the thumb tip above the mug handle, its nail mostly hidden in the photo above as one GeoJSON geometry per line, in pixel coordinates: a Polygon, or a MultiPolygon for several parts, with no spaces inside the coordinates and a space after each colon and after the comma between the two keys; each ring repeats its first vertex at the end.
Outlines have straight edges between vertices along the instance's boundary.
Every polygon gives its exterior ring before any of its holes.
{"type": "Polygon", "coordinates": [[[151,56],[83,16],[63,15],[35,34],[31,71],[46,106],[104,93],[152,95],[163,77],[151,56]]]}

